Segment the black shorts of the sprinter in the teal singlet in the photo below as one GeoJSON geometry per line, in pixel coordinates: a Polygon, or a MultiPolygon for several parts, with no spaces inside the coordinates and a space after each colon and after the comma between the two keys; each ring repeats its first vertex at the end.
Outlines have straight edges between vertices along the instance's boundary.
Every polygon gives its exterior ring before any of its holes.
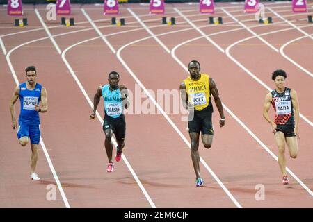
{"type": "Polygon", "coordinates": [[[103,132],[107,129],[113,130],[116,140],[123,141],[126,134],[126,122],[124,114],[118,118],[112,118],[108,115],[104,117],[103,132]]]}

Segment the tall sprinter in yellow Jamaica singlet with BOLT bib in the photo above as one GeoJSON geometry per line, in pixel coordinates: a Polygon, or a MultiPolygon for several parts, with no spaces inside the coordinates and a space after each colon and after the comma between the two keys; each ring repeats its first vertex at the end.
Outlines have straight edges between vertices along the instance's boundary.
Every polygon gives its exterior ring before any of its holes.
{"type": "Polygon", "coordinates": [[[218,88],[213,78],[207,74],[200,74],[200,63],[196,60],[189,62],[188,71],[190,76],[181,83],[179,89],[184,108],[189,110],[188,129],[191,138],[191,159],[195,170],[196,186],[202,187],[204,181],[200,176],[199,136],[201,132],[204,147],[210,148],[214,135],[211,95],[213,95],[220,113],[220,127],[225,125],[225,116],[218,88]]]}

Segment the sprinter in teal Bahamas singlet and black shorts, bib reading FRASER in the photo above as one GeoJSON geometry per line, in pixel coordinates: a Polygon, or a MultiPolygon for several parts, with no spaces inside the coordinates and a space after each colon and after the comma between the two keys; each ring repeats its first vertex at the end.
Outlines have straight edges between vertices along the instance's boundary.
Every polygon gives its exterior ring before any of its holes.
{"type": "Polygon", "coordinates": [[[100,98],[104,99],[104,124],[103,131],[106,135],[105,147],[106,155],[109,159],[106,171],[111,173],[114,169],[112,162],[113,144],[111,138],[115,135],[118,147],[116,151],[116,162],[122,157],[122,148],[125,146],[126,123],[123,114],[124,108],[127,109],[129,101],[127,100],[127,88],[124,85],[118,85],[120,75],[116,71],[111,71],[108,78],[109,84],[100,85],[93,99],[93,112],[90,119],[95,119],[95,112],[99,104],[100,98]]]}

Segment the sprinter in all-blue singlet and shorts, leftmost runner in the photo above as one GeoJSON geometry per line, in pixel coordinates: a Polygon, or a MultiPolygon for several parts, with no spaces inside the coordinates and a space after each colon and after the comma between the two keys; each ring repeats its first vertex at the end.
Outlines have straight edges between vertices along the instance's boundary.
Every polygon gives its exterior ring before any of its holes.
{"type": "Polygon", "coordinates": [[[19,99],[21,102],[21,111],[19,114],[19,125],[17,138],[19,144],[26,146],[31,141],[31,179],[40,180],[35,168],[38,160],[38,144],[40,141],[40,119],[39,112],[47,112],[47,91],[37,83],[37,71],[34,66],[25,69],[26,79],[15,87],[13,97],[10,101],[10,112],[12,117],[12,127],[16,128],[17,122],[14,113],[14,104],[19,99]],[[41,101],[42,107],[39,107],[41,101]]]}

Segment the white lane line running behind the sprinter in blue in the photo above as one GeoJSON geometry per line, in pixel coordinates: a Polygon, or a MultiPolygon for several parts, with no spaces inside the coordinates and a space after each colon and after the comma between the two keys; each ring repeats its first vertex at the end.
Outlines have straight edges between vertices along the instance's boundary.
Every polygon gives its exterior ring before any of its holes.
{"type": "MultiPolygon", "coordinates": [[[[15,47],[15,48],[17,48],[17,47],[15,47]]],[[[15,48],[14,48],[14,49],[15,49],[15,48]]],[[[10,54],[14,51],[14,49],[11,49],[11,50],[8,52],[8,54],[6,54],[6,60],[7,60],[7,62],[8,62],[9,67],[10,67],[11,74],[13,75],[13,78],[14,78],[14,80],[15,80],[15,84],[16,84],[16,85],[19,85],[19,80],[18,80],[17,75],[16,75],[16,73],[15,73],[15,69],[13,68],[13,65],[12,65],[12,63],[11,63],[11,61],[10,61],[10,54]]],[[[46,146],[45,146],[45,143],[44,143],[42,137],[40,137],[40,145],[42,146],[42,150],[43,150],[44,153],[45,153],[45,157],[46,157],[47,162],[48,162],[48,164],[49,164],[49,167],[50,167],[50,169],[51,169],[52,175],[54,176],[54,180],[56,180],[56,185],[58,186],[58,190],[60,191],[60,194],[61,194],[61,196],[62,196],[62,199],[63,199],[63,202],[64,202],[64,204],[65,204],[65,207],[66,207],[66,208],[70,208],[70,204],[68,203],[68,200],[67,200],[67,198],[66,198],[66,196],[65,196],[65,192],[64,192],[64,190],[63,190],[63,187],[62,187],[62,185],[61,185],[60,180],[58,179],[58,175],[56,174],[56,170],[54,169],[54,165],[52,164],[51,158],[50,158],[50,156],[49,156],[49,153],[48,153],[48,151],[47,151],[47,148],[46,148],[46,146]]]]}

